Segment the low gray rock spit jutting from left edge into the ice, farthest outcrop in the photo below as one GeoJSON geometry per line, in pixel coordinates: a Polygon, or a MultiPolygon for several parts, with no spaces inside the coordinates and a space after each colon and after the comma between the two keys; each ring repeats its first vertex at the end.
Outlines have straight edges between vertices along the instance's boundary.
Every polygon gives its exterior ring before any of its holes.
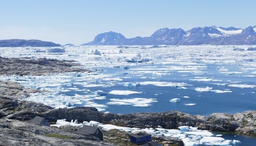
{"type": "Polygon", "coordinates": [[[0,73],[2,75],[35,75],[41,76],[51,73],[64,72],[90,72],[74,61],[57,59],[30,59],[30,58],[4,58],[0,57],[0,73]]]}

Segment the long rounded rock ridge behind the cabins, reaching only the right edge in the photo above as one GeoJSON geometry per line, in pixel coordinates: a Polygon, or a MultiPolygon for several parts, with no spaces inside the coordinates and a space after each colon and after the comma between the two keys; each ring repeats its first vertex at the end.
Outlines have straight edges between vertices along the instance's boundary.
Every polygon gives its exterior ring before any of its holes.
{"type": "Polygon", "coordinates": [[[210,116],[189,115],[180,111],[163,113],[111,114],[97,111],[94,107],[74,107],[53,109],[44,113],[50,121],[58,119],[77,119],[79,122],[95,120],[102,123],[117,124],[127,127],[146,128],[147,126],[178,128],[193,126],[203,130],[230,131],[256,136],[256,111],[245,111],[234,115],[213,113],[210,116]]]}

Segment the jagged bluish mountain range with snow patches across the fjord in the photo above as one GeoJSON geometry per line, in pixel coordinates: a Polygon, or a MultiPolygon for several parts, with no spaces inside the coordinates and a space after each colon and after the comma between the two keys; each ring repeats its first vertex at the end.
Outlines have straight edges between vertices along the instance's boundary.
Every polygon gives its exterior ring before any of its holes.
{"type": "Polygon", "coordinates": [[[241,28],[198,27],[184,31],[181,28],[162,28],[150,37],[126,39],[121,33],[113,31],[100,33],[89,43],[82,45],[254,45],[256,26],[241,28]]]}

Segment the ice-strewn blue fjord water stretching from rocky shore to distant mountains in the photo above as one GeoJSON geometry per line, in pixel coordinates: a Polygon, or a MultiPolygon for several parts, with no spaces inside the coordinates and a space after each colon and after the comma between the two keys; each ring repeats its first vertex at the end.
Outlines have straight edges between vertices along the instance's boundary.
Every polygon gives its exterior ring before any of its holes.
{"type": "MultiPolygon", "coordinates": [[[[234,47],[122,48],[123,53],[117,46],[69,47],[65,53],[35,53],[32,47],[1,48],[2,57],[72,59],[84,65],[82,68],[94,71],[1,76],[1,80],[50,91],[31,94],[24,100],[56,108],[91,106],[102,112],[120,114],[175,110],[206,116],[256,110],[256,51],[234,51],[234,47]],[[88,55],[91,48],[98,49],[102,55],[88,55]],[[127,61],[138,54],[150,61],[127,61]],[[129,68],[124,69],[125,66],[129,68]],[[133,83],[135,87],[124,86],[126,83],[133,83]],[[99,90],[104,93],[95,92],[99,90]],[[133,94],[127,94],[130,91],[134,91],[133,94]],[[174,98],[179,100],[170,102],[174,98]]],[[[223,134],[225,139],[240,140],[240,145],[256,143],[254,137],[235,136],[223,134]]]]}

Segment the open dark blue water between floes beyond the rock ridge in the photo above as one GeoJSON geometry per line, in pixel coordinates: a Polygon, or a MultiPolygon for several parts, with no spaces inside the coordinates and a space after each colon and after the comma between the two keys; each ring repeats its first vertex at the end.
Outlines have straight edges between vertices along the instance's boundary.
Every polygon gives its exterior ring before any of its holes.
{"type": "MultiPolygon", "coordinates": [[[[152,65],[143,65],[143,67],[152,65]]],[[[155,67],[156,65],[154,65],[155,67]]],[[[223,66],[223,65],[221,65],[223,66]]],[[[142,68],[143,68],[142,67],[142,68]]],[[[160,68],[160,66],[157,66],[160,68]]],[[[231,68],[234,72],[241,71],[239,67],[225,66],[231,68]]],[[[133,67],[130,67],[132,69],[133,67]]],[[[138,68],[138,67],[134,67],[138,68]]],[[[115,74],[120,72],[127,72],[123,68],[104,68],[104,71],[100,73],[104,74],[115,74]]],[[[129,94],[129,95],[115,95],[107,94],[105,100],[95,100],[98,104],[104,104],[110,102],[111,98],[119,99],[133,99],[133,98],[156,98],[158,102],[152,102],[148,107],[136,107],[132,105],[107,105],[106,111],[111,113],[140,113],[140,112],[164,112],[164,111],[182,111],[192,115],[206,115],[209,116],[211,113],[237,113],[248,110],[256,110],[256,88],[239,88],[239,87],[228,87],[216,85],[216,83],[228,83],[228,84],[248,84],[255,85],[255,77],[245,77],[247,73],[226,75],[225,73],[219,73],[217,65],[208,65],[208,68],[202,70],[203,74],[193,74],[191,72],[180,73],[173,71],[174,74],[163,75],[160,78],[152,79],[157,77],[152,73],[144,73],[142,76],[136,76],[137,74],[128,73],[127,75],[116,75],[123,80],[115,82],[115,86],[112,87],[87,87],[91,91],[102,90],[104,92],[110,92],[113,90],[130,90],[143,92],[142,94],[129,94]],[[187,76],[181,76],[187,75],[187,76]],[[123,78],[131,77],[131,78],[123,78]],[[191,81],[189,79],[195,79],[195,77],[208,77],[218,79],[222,81],[191,81]],[[138,87],[124,87],[125,82],[140,83],[144,81],[166,81],[174,83],[187,83],[191,86],[186,86],[187,89],[180,89],[179,87],[159,87],[156,85],[140,85],[138,87]],[[230,83],[238,81],[237,83],[230,83]],[[225,91],[229,89],[232,92],[226,93],[215,93],[215,92],[198,92],[195,91],[197,87],[212,87],[213,90],[225,91]],[[155,95],[158,94],[158,95],[155,95]],[[184,98],[189,96],[190,98],[184,98]],[[180,98],[180,102],[170,102],[173,98],[180,98]],[[189,106],[186,104],[195,103],[195,105],[189,106]]],[[[230,71],[229,71],[230,72],[230,71]]],[[[96,81],[95,83],[104,83],[108,81],[96,81]]],[[[84,89],[82,85],[76,85],[77,88],[84,89]]],[[[83,92],[65,92],[67,95],[83,94],[83,92]]]]}

